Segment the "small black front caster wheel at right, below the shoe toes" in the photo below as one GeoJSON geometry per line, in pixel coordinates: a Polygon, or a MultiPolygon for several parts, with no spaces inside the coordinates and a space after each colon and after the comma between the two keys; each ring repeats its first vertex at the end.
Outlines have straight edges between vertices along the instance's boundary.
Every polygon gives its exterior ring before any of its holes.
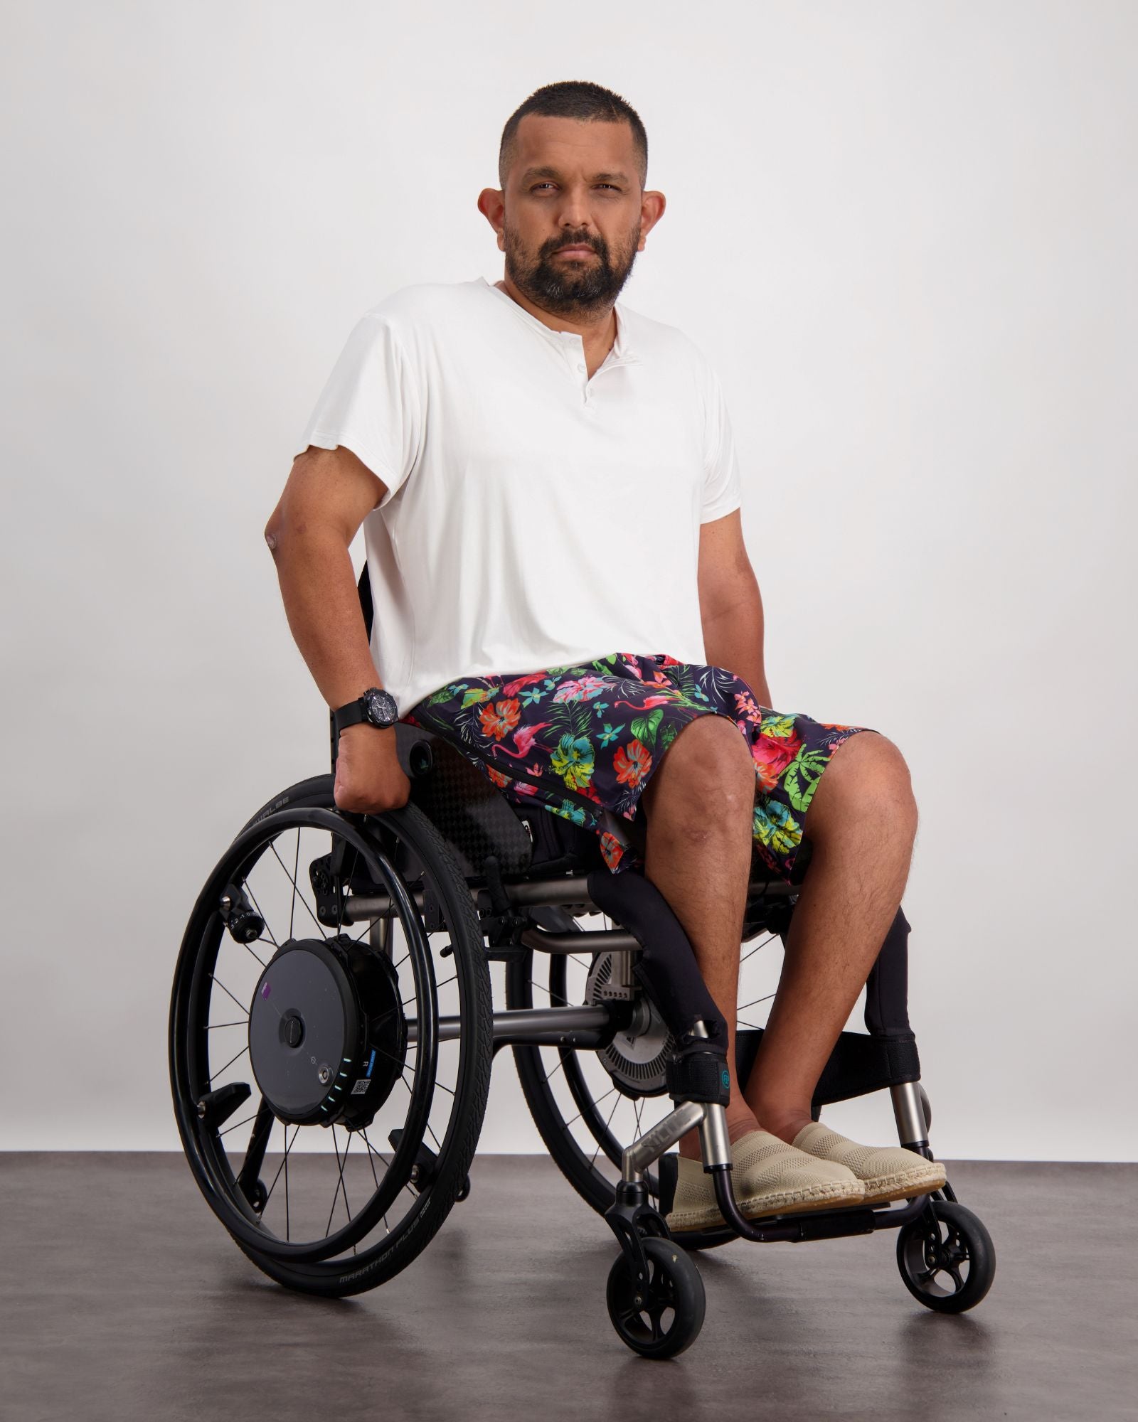
{"type": "Polygon", "coordinates": [[[926,1308],[963,1314],[991,1288],[996,1247],[972,1210],[930,1200],[920,1219],[898,1234],[898,1268],[905,1287],[926,1308]]]}

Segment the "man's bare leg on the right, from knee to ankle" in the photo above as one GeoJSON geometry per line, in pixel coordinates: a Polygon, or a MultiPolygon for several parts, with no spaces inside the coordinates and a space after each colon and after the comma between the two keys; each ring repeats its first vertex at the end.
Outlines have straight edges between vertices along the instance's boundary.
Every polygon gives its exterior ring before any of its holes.
{"type": "Polygon", "coordinates": [[[909,876],[916,802],[886,737],[844,741],[804,820],[809,869],[787,933],[778,993],[747,1102],[762,1126],[794,1140],[811,1098],[898,912],[909,876]]]}

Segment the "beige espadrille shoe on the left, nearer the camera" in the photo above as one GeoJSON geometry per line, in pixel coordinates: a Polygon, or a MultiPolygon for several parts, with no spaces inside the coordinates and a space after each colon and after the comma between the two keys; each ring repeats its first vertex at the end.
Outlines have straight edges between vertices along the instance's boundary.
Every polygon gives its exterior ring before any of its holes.
{"type": "MultiPolygon", "coordinates": [[[[748,1130],[731,1146],[731,1187],[748,1220],[859,1204],[865,1194],[852,1170],[797,1150],[770,1130],[748,1130]]],[[[666,1223],[677,1233],[725,1226],[701,1160],[679,1158],[676,1197],[666,1223]]]]}

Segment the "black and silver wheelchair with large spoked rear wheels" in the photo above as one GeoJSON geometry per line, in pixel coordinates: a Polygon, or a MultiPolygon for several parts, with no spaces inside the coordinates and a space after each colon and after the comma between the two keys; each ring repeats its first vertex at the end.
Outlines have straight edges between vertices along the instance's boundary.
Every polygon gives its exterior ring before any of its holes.
{"type": "MultiPolygon", "coordinates": [[[[360,593],[370,624],[366,576],[360,593]]],[[[225,850],[179,950],[178,1130],[209,1207],[253,1264],[327,1297],[405,1268],[469,1193],[492,1062],[509,1047],[545,1146],[613,1230],[606,1303],[634,1352],[674,1357],[696,1340],[704,1288],[693,1256],[740,1237],[895,1230],[920,1304],[980,1303],[994,1249],[949,1183],[888,1206],[744,1219],[731,1192],[725,1022],[664,897],[636,870],[613,875],[583,825],[511,803],[448,741],[404,721],[395,741],[407,805],[340,812],[331,774],[289,786],[225,850]],[[725,1224],[673,1236],[670,1148],[691,1129],[725,1224]]],[[[785,941],[808,872],[808,842],[791,883],[753,859],[741,1084],[762,1035],[753,1010],[777,985],[777,973],[755,977],[771,967],[760,950],[785,941]]],[[[898,910],[866,984],[866,1031],[841,1034],[812,1113],[888,1091],[900,1143],[932,1159],[908,934],[898,910]]]]}

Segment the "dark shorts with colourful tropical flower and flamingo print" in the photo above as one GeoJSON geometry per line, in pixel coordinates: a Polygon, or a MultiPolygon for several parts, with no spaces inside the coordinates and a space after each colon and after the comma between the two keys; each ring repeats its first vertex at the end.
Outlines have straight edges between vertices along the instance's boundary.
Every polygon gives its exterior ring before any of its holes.
{"type": "Polygon", "coordinates": [[[462,751],[515,805],[541,803],[600,836],[613,873],[644,862],[622,820],[694,717],[730,717],[755,765],[754,855],[789,882],[802,818],[835,749],[871,727],[761,707],[724,667],[613,651],[576,667],[465,677],[401,720],[462,751]]]}

